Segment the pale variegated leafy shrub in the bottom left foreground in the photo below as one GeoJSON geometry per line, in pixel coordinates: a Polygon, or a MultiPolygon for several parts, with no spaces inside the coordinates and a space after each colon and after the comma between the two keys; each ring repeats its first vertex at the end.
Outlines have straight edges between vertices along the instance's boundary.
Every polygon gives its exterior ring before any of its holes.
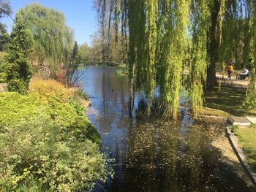
{"type": "Polygon", "coordinates": [[[94,180],[105,180],[99,145],[62,129],[43,113],[2,126],[1,191],[89,191],[94,180]]]}

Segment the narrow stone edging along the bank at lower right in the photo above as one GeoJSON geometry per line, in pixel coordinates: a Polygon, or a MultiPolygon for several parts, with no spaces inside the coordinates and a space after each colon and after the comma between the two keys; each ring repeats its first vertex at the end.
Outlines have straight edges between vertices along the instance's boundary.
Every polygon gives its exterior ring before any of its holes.
{"type": "Polygon", "coordinates": [[[252,171],[251,167],[246,161],[245,155],[243,150],[238,146],[238,138],[233,135],[230,131],[230,128],[226,127],[226,134],[227,138],[230,141],[231,146],[233,147],[233,150],[235,151],[239,161],[241,162],[242,166],[244,167],[246,173],[248,174],[249,178],[252,180],[252,183],[256,186],[256,173],[252,171]]]}

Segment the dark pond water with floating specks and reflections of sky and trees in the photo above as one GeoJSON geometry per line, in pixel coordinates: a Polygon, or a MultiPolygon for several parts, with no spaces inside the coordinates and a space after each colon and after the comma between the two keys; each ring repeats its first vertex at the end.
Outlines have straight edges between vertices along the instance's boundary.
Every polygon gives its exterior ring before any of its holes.
{"type": "Polygon", "coordinates": [[[83,79],[92,101],[86,113],[115,173],[94,191],[254,191],[211,145],[223,125],[194,122],[182,110],[176,123],[145,122],[136,113],[142,96],[115,71],[89,66],[83,79]]]}

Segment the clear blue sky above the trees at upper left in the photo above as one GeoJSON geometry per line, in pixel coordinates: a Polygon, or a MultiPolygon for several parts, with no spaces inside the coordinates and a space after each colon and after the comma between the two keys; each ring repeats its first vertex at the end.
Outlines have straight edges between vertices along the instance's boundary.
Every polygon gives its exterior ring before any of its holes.
{"type": "MultiPolygon", "coordinates": [[[[78,44],[87,42],[91,45],[91,35],[97,31],[97,18],[96,11],[93,9],[93,0],[10,0],[12,18],[15,18],[15,13],[20,8],[34,2],[63,12],[67,26],[75,31],[75,40],[78,44]]],[[[7,30],[10,33],[12,19],[3,18],[1,22],[7,25],[7,30]]]]}

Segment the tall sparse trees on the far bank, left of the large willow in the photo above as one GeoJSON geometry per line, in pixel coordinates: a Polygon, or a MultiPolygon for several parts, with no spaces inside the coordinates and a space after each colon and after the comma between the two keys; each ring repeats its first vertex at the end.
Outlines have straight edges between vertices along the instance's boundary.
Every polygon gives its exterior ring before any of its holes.
{"type": "Polygon", "coordinates": [[[127,58],[127,4],[127,0],[94,0],[99,31],[94,35],[93,44],[102,63],[123,63],[127,58]]]}

